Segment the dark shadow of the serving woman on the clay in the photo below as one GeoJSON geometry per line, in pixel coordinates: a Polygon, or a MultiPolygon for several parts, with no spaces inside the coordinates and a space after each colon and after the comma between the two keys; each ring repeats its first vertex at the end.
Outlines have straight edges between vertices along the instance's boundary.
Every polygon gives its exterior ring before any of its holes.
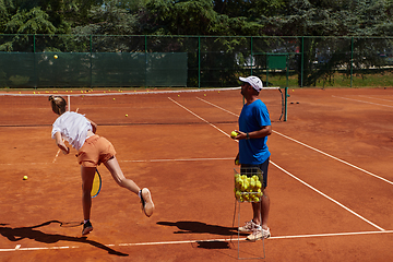
{"type": "Polygon", "coordinates": [[[60,225],[62,224],[59,221],[49,221],[32,227],[14,227],[14,228],[9,227],[8,224],[0,224],[0,235],[8,238],[10,241],[20,241],[22,239],[28,238],[37,242],[44,242],[44,243],[55,243],[58,241],[87,243],[93,247],[106,250],[110,254],[116,254],[121,257],[129,255],[127,253],[121,253],[111,248],[108,248],[107,246],[99,243],[97,241],[88,240],[86,237],[70,237],[59,234],[47,234],[35,229],[35,228],[48,226],[52,223],[59,223],[60,225]]]}

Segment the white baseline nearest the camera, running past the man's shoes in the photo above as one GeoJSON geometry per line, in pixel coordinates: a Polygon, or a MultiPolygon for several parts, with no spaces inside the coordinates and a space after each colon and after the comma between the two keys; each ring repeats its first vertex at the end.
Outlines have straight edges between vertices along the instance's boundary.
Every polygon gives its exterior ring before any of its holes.
{"type": "MultiPolygon", "coordinates": [[[[310,234],[310,235],[293,235],[293,236],[276,236],[270,237],[270,240],[279,239],[298,239],[298,238],[319,238],[319,237],[341,237],[341,236],[360,236],[360,235],[380,235],[393,234],[393,230],[385,231],[354,231],[354,233],[326,233],[326,234],[310,234]]],[[[105,247],[138,247],[138,246],[165,246],[165,245],[182,245],[182,243],[200,243],[213,241],[237,241],[237,237],[233,238],[218,238],[218,239],[201,239],[201,240],[179,240],[179,241],[159,241],[159,242],[134,242],[134,243],[117,243],[117,245],[103,245],[105,247]]],[[[248,241],[246,238],[239,238],[240,241],[248,241]]],[[[15,252],[15,251],[40,251],[40,250],[63,250],[63,249],[78,249],[85,248],[82,246],[59,246],[59,247],[41,247],[41,248],[22,248],[17,245],[15,248],[0,249],[0,252],[15,252]]]]}

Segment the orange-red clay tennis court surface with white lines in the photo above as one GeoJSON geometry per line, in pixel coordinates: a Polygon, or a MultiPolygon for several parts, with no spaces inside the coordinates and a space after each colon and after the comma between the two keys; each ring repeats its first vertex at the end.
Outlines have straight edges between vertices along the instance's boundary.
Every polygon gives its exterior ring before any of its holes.
{"type": "MultiPolygon", "coordinates": [[[[138,196],[100,166],[94,230],[82,237],[82,226],[72,226],[83,218],[75,151],[57,155],[50,139],[53,91],[1,95],[1,261],[393,260],[392,88],[290,90],[288,121],[279,120],[281,94],[261,93],[274,130],[272,237],[247,242],[242,235],[240,251],[238,144],[229,138],[239,90],[76,93],[56,94],[71,95],[71,110],[98,123],[124,175],[151,189],[155,213],[145,217],[138,196]]],[[[241,204],[241,224],[249,205],[241,204]]]]}

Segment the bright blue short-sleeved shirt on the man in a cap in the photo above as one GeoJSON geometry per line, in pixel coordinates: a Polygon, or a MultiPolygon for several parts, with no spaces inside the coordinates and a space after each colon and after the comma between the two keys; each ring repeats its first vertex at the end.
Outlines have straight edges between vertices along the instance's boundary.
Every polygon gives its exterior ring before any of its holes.
{"type": "MultiPolygon", "coordinates": [[[[245,104],[239,117],[239,130],[245,133],[271,126],[266,105],[258,99],[250,105],[245,104]]],[[[261,139],[239,140],[240,164],[260,165],[271,155],[267,148],[267,136],[261,139]]]]}

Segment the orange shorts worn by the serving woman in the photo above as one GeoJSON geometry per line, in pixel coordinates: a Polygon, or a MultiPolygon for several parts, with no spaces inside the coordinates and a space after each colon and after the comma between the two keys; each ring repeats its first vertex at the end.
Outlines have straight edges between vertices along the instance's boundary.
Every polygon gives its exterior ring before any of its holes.
{"type": "Polygon", "coordinates": [[[97,134],[90,136],[78,152],[78,163],[84,167],[97,167],[116,155],[114,145],[97,134]]]}

